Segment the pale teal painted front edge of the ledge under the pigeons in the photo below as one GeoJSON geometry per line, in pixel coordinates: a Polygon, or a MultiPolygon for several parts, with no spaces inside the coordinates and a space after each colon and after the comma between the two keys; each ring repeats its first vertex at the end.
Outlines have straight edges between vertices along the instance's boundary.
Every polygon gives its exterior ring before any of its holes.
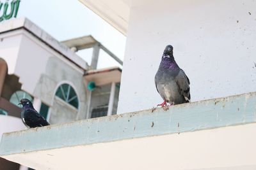
{"type": "Polygon", "coordinates": [[[0,155],[143,138],[256,120],[256,92],[162,108],[79,120],[3,134],[0,155]]]}

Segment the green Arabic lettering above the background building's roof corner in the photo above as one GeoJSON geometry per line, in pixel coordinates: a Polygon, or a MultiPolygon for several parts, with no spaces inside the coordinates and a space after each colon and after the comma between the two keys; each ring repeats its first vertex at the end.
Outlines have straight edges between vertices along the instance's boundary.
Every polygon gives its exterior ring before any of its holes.
{"type": "Polygon", "coordinates": [[[20,6],[20,0],[13,0],[11,3],[7,0],[5,3],[0,1],[0,22],[17,17],[20,6]]]}

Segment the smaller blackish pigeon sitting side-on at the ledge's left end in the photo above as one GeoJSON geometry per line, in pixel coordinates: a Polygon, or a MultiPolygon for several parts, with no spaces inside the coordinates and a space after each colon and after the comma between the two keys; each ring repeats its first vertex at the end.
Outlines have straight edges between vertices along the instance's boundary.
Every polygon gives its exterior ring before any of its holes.
{"type": "Polygon", "coordinates": [[[21,120],[26,125],[26,127],[42,127],[45,125],[50,125],[44,117],[42,117],[33,107],[33,104],[29,99],[21,99],[22,104],[21,110],[21,120]]]}

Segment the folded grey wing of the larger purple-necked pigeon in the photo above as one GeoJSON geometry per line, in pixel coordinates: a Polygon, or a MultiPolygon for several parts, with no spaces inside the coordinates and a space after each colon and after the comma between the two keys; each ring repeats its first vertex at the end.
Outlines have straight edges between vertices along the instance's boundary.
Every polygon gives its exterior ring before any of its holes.
{"type": "Polygon", "coordinates": [[[180,69],[179,74],[175,77],[175,81],[179,87],[180,94],[184,96],[186,102],[190,102],[190,89],[189,89],[189,78],[186,76],[185,72],[180,69]]]}

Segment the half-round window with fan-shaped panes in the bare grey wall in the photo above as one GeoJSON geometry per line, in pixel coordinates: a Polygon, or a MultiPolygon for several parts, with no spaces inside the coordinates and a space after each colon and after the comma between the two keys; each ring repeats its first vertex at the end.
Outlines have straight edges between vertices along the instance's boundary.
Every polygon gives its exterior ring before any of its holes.
{"type": "Polygon", "coordinates": [[[78,98],[75,90],[67,83],[60,85],[56,91],[56,96],[60,97],[63,101],[78,108],[78,98]]]}

